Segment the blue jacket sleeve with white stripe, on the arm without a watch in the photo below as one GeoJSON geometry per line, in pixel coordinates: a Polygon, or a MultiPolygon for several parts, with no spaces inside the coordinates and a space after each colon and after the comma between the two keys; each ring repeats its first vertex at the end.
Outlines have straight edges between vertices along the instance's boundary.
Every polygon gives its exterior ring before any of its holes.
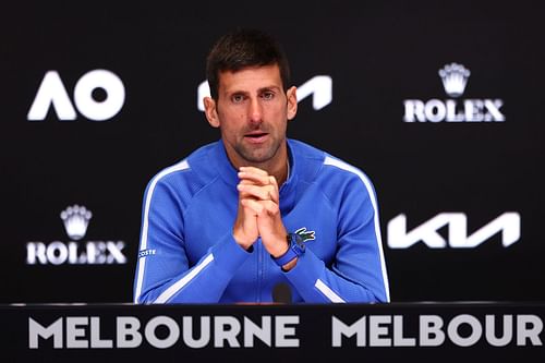
{"type": "Polygon", "coordinates": [[[169,183],[172,177],[158,177],[149,182],[144,195],[134,302],[216,303],[251,253],[228,233],[190,266],[183,209],[191,193],[180,193],[184,185],[169,183]]]}

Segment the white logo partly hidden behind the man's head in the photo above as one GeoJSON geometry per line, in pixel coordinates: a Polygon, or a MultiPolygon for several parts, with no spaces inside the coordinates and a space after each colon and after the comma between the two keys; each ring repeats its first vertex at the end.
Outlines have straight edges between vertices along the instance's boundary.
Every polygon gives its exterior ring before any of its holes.
{"type": "MultiPolygon", "coordinates": [[[[318,111],[331,104],[334,81],[328,75],[316,75],[298,87],[298,101],[312,96],[312,107],[318,111]]],[[[197,108],[204,111],[204,97],[210,97],[208,82],[202,82],[197,87],[197,108]]]]}

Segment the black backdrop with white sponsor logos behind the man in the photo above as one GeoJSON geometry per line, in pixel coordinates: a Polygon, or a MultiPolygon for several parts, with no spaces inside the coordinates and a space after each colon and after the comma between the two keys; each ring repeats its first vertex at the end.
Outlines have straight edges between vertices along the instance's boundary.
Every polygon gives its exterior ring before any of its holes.
{"type": "Polygon", "coordinates": [[[145,185],[218,137],[204,63],[237,25],[284,45],[289,135],[374,181],[393,301],[545,299],[541,2],[4,8],[0,302],[132,300],[145,185]]]}

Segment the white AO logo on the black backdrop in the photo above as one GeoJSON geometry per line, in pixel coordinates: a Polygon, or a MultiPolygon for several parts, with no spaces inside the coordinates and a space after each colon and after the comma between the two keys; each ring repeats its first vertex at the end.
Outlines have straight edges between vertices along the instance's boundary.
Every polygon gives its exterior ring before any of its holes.
{"type": "MultiPolygon", "coordinates": [[[[84,117],[92,121],[106,121],[118,114],[125,101],[123,82],[112,72],[94,70],[85,73],[75,84],[73,101],[84,117]],[[106,98],[96,100],[96,89],[106,92],[106,98]]],[[[28,121],[44,121],[50,107],[60,121],[73,121],[77,114],[57,71],[48,71],[28,110],[28,121]]]]}

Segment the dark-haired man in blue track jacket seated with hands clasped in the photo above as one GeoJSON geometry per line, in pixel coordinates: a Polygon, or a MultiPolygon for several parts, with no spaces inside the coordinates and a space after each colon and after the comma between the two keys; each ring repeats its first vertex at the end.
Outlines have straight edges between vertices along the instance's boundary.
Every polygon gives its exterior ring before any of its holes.
{"type": "Polygon", "coordinates": [[[214,46],[204,105],[221,140],[149,182],[135,303],[389,301],[373,186],[286,137],[289,74],[262,32],[214,46]]]}

